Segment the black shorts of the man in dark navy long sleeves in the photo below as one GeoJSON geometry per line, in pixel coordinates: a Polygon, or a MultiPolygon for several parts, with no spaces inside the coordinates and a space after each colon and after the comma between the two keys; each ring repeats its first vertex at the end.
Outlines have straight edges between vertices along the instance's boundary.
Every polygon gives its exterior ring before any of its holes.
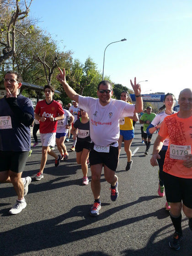
{"type": "Polygon", "coordinates": [[[29,151],[0,151],[0,171],[24,171],[29,151]]]}

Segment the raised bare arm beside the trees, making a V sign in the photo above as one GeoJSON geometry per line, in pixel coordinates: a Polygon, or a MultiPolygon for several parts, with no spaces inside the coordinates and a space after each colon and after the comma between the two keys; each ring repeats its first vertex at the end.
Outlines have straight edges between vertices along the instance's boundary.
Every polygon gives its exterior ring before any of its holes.
{"type": "Polygon", "coordinates": [[[65,69],[63,69],[63,71],[59,69],[59,74],[57,75],[57,80],[63,85],[64,87],[64,91],[66,92],[67,96],[76,102],[79,102],[79,94],[77,94],[73,88],[71,88],[68,83],[66,82],[66,78],[65,78],[65,69]]]}

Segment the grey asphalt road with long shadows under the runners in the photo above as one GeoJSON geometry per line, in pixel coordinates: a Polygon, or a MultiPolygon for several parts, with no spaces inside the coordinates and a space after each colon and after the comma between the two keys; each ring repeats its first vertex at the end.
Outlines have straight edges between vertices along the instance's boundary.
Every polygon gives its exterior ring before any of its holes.
{"type": "MultiPolygon", "coordinates": [[[[67,149],[71,143],[66,143],[67,149]]],[[[17,215],[8,215],[16,201],[12,185],[0,184],[0,256],[192,256],[192,232],[184,214],[180,251],[168,245],[174,229],[164,208],[165,197],[157,194],[158,168],[149,163],[153,145],[144,156],[139,123],[131,149],[137,150],[133,165],[124,171],[127,158],[122,145],[116,202],[110,200],[110,185],[102,173],[98,217],[89,215],[91,184],[81,186],[82,171],[70,150],[69,159],[57,168],[48,156],[44,178],[32,180],[27,207],[17,215]]],[[[34,177],[39,171],[41,143],[32,150],[23,176],[34,177]]],[[[91,180],[90,168],[88,176],[91,180]]]]}

